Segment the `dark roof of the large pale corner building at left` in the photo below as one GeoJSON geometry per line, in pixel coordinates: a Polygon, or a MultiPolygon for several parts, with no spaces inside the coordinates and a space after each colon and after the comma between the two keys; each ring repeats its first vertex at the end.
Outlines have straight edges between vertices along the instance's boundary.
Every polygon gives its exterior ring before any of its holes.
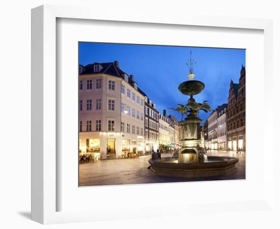
{"type": "MultiPolygon", "coordinates": [[[[80,65],[80,66],[82,66],[82,65],[80,65]]],[[[127,73],[125,73],[123,70],[121,70],[119,68],[118,62],[93,63],[93,64],[88,64],[88,65],[82,66],[82,67],[85,69],[85,71],[81,72],[80,75],[103,73],[103,74],[107,74],[107,75],[111,75],[111,76],[116,76],[116,77],[124,79],[124,74],[127,74],[127,73]],[[94,72],[94,65],[101,65],[102,66],[102,70],[99,71],[99,72],[94,72]]],[[[136,83],[136,82],[132,79],[132,77],[128,77],[128,83],[131,85],[131,87],[134,88],[134,83],[136,83]]],[[[138,85],[137,85],[137,91],[140,94],[142,94],[143,96],[147,97],[147,95],[141,89],[139,89],[138,85]]]]}

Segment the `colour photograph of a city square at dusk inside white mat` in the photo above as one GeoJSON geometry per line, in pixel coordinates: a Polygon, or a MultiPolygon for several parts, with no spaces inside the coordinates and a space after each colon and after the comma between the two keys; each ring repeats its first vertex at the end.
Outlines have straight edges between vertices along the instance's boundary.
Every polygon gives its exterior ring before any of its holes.
{"type": "Polygon", "coordinates": [[[245,55],[78,42],[78,186],[244,180],[245,55]]]}

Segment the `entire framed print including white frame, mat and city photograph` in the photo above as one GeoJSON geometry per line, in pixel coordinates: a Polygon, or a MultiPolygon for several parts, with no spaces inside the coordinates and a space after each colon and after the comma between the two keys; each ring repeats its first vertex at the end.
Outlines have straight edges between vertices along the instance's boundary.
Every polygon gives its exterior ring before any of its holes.
{"type": "Polygon", "coordinates": [[[33,9],[32,219],[270,209],[272,124],[254,131],[254,110],[271,37],[265,19],[33,9]]]}

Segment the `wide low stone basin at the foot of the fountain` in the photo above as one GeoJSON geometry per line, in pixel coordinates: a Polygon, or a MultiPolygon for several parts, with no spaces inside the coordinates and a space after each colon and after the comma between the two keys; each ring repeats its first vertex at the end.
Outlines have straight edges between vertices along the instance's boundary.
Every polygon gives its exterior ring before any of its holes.
{"type": "Polygon", "coordinates": [[[227,156],[208,156],[208,161],[203,163],[176,163],[176,159],[170,157],[149,160],[156,175],[179,178],[225,176],[236,169],[237,162],[238,158],[227,156]]]}

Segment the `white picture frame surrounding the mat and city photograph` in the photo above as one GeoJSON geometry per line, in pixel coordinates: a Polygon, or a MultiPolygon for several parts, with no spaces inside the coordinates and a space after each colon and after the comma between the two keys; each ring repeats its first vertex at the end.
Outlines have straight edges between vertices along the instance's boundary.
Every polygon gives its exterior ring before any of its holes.
{"type": "MultiPolygon", "coordinates": [[[[57,18],[107,20],[121,22],[145,22],[154,24],[191,25],[243,28],[262,30],[264,32],[264,72],[266,75],[264,83],[263,102],[271,105],[273,82],[273,43],[272,43],[272,21],[268,19],[248,19],[230,17],[201,17],[193,15],[177,15],[168,17],[157,14],[156,16],[143,16],[136,12],[110,12],[106,15],[102,11],[92,12],[85,7],[65,7],[44,5],[32,10],[32,220],[43,223],[66,223],[82,222],[106,219],[126,219],[134,218],[134,211],[120,209],[119,213],[112,216],[104,216],[100,211],[57,211],[57,184],[60,182],[56,171],[59,169],[56,163],[56,101],[58,88],[56,87],[56,33],[57,18]]],[[[271,105],[272,107],[272,105],[271,105]]],[[[264,132],[272,134],[273,126],[267,123],[264,132]]],[[[263,135],[263,140],[268,140],[270,136],[263,135]]],[[[266,147],[267,157],[273,157],[272,145],[266,147]]],[[[273,167],[268,159],[264,159],[264,193],[262,197],[255,201],[240,201],[234,203],[209,203],[205,202],[204,208],[209,211],[215,209],[215,205],[225,208],[225,211],[239,211],[240,206],[247,211],[252,211],[258,206],[259,209],[267,210],[272,208],[273,203],[273,167]]],[[[179,187],[179,186],[178,186],[179,187]]],[[[168,203],[165,207],[167,208],[168,203]]],[[[139,207],[143,209],[137,217],[159,216],[163,212],[171,212],[162,208],[163,206],[139,207]]],[[[184,204],[176,206],[172,210],[173,214],[182,212],[199,212],[199,206],[184,204]]]]}

